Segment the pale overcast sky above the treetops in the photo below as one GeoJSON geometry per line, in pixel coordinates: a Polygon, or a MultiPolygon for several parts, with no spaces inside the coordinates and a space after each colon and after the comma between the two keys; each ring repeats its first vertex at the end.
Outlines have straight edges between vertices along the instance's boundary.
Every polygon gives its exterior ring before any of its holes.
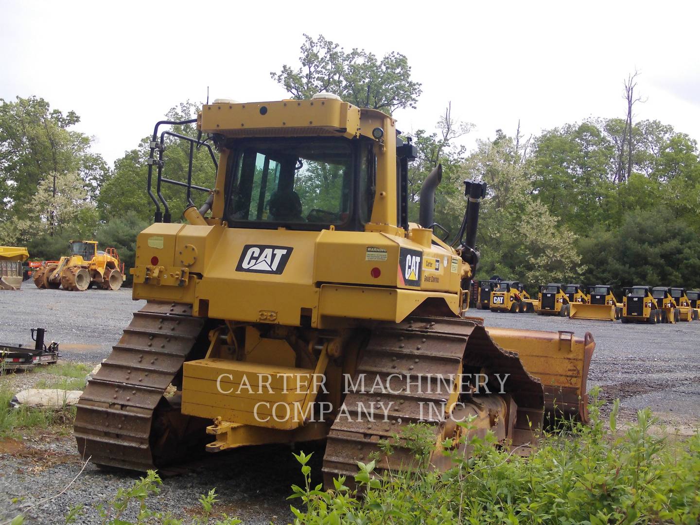
{"type": "Polygon", "coordinates": [[[80,116],[110,164],[179,102],[268,101],[302,33],[407,55],[423,84],[402,131],[433,129],[447,102],[475,124],[466,143],[584,118],[625,116],[700,139],[700,2],[335,2],[0,0],[0,97],[35,94],[80,116]]]}

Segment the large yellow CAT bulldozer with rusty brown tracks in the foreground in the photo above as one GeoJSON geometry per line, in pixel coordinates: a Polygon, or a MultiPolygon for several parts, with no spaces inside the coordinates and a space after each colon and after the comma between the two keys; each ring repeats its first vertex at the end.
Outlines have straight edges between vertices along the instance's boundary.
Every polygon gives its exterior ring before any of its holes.
{"type": "MultiPolygon", "coordinates": [[[[331,484],[374,453],[388,468],[377,443],[411,423],[433,433],[430,461],[444,469],[444,447],[465,447],[444,440],[464,437],[456,423],[468,416],[469,432],[492,430],[518,453],[535,445],[545,410],[587,419],[591,335],[491,337],[466,315],[486,185],[465,182],[452,244],[432,230],[440,166],[409,222],[416,148],[391,116],[331,94],[218,99],[196,119],[158,123],[150,146],[155,221],[131,271],[133,298],[147,303],[78,402],[84,457],[146,470],[199,450],[325,439],[331,484]],[[200,137],[162,129],[186,123],[200,137]],[[193,185],[191,169],[166,178],[176,139],[209,151],[211,188],[193,185]],[[186,192],[187,223],[170,222],[162,184],[186,192]],[[200,208],[194,192],[207,195],[200,208]]],[[[391,465],[411,461],[399,440],[391,465]]]]}

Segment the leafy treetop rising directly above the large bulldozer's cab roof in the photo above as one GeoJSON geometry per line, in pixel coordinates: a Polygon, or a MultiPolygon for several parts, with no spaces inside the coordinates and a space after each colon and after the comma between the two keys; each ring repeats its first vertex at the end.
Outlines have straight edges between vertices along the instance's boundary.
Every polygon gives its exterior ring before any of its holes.
{"type": "Polygon", "coordinates": [[[314,40],[307,34],[300,51],[298,69],[284,64],[281,72],[270,73],[295,99],[325,91],[360,108],[391,114],[415,108],[421,94],[421,84],[411,80],[411,67],[401,53],[389,52],[378,60],[371,52],[357,48],[346,52],[323,35],[314,40]]]}

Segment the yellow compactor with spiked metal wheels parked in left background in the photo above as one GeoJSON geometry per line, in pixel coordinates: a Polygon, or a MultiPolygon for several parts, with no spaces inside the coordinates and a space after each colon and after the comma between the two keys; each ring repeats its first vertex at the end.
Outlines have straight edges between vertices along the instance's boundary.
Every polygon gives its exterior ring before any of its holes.
{"type": "Polygon", "coordinates": [[[45,262],[32,278],[36,288],[63,288],[82,292],[92,286],[118,290],[124,282],[124,265],[115,248],[97,249],[97,241],[70,241],[70,255],[45,262]]]}

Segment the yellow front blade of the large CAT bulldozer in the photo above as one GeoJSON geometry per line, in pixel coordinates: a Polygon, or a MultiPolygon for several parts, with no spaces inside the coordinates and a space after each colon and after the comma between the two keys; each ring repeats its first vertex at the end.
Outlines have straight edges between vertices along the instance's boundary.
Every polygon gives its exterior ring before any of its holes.
{"type": "Polygon", "coordinates": [[[596,343],[590,332],[544,332],[517,328],[486,330],[503,349],[517,352],[525,370],[542,381],[545,413],[588,422],[586,379],[596,343]]]}

